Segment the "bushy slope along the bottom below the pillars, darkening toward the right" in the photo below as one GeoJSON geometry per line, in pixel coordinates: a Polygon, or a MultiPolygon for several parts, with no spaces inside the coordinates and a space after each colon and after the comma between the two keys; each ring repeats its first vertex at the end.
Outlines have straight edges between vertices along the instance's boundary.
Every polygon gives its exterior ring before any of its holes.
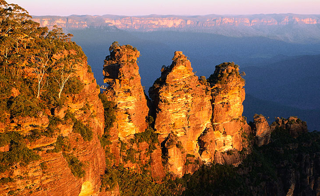
{"type": "MultiPolygon", "coordinates": [[[[279,180],[284,176],[282,172],[296,170],[300,176],[306,176],[303,171],[304,164],[299,161],[300,157],[312,157],[319,153],[318,132],[305,133],[293,138],[288,130],[277,128],[272,133],[268,145],[253,145],[249,155],[240,152],[244,160],[238,167],[221,164],[202,165],[192,175],[186,174],[182,178],[171,180],[168,174],[162,184],[157,184],[151,178],[147,165],[141,167],[140,173],[120,165],[112,167],[102,176],[101,188],[112,190],[118,182],[121,195],[126,196],[257,195],[265,192],[275,194],[273,191],[279,188],[279,180]]],[[[187,154],[187,157],[192,158],[193,155],[187,154]]]]}

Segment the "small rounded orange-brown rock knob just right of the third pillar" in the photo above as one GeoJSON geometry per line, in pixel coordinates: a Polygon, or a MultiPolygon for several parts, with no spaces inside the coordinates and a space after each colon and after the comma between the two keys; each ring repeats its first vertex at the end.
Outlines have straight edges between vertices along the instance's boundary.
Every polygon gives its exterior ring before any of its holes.
{"type": "Polygon", "coordinates": [[[271,137],[271,129],[268,121],[263,115],[255,114],[253,117],[253,123],[250,124],[253,136],[255,137],[255,143],[258,146],[268,144],[271,137]]]}

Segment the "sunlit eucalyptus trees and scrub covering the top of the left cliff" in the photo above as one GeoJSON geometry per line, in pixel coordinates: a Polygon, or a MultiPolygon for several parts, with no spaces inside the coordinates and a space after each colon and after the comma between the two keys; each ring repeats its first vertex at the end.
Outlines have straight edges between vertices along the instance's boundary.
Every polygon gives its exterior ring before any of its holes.
{"type": "Polygon", "coordinates": [[[60,28],[49,32],[30,18],[20,6],[1,1],[2,122],[9,117],[38,117],[38,112],[63,105],[66,95],[83,88],[74,73],[86,57],[81,47],[70,41],[72,35],[60,28]]]}

